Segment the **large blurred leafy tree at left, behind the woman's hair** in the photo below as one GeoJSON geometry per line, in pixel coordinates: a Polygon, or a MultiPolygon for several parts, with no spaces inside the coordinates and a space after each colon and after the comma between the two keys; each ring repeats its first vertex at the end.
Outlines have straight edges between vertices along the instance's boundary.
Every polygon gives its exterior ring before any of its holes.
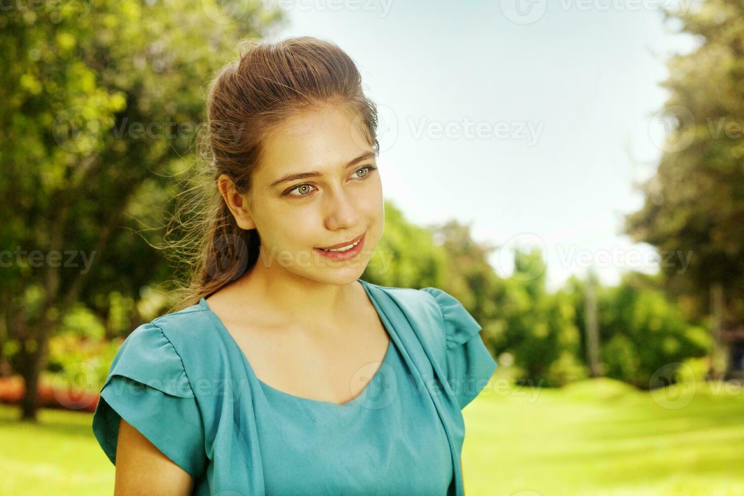
{"type": "Polygon", "coordinates": [[[74,302],[106,309],[112,292],[136,298],[167,279],[148,246],[157,235],[118,228],[163,218],[170,176],[190,164],[202,84],[241,39],[283,20],[259,2],[230,13],[211,0],[38,5],[0,16],[0,303],[26,419],[48,338],[74,302]]]}

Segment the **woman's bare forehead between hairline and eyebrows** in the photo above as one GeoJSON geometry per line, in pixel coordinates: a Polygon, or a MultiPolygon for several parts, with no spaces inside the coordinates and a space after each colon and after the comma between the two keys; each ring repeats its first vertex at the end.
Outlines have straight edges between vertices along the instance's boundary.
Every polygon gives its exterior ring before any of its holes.
{"type": "Polygon", "coordinates": [[[326,106],[289,117],[264,144],[256,175],[264,179],[285,173],[336,172],[363,152],[371,151],[359,114],[326,106]]]}

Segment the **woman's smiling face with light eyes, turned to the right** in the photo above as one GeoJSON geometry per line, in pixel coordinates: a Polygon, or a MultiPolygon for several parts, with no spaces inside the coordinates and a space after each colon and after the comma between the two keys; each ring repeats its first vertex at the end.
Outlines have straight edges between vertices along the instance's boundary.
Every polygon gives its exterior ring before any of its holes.
{"type": "Polygon", "coordinates": [[[347,109],[326,106],[292,117],[271,135],[253,175],[254,211],[241,225],[260,235],[257,269],[289,270],[338,285],[362,275],[382,236],[385,210],[379,170],[361,126],[347,109]],[[362,236],[348,254],[319,249],[362,236]]]}

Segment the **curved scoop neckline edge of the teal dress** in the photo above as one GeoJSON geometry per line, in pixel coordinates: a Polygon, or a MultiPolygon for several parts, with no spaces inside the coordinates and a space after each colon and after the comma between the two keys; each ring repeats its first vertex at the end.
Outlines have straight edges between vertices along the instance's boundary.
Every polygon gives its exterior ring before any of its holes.
{"type": "MultiPolygon", "coordinates": [[[[275,393],[280,394],[280,396],[285,396],[290,399],[294,399],[299,402],[307,402],[312,403],[315,405],[327,405],[331,408],[337,408],[339,410],[348,410],[349,408],[352,408],[354,405],[360,404],[361,401],[364,399],[365,396],[367,396],[370,385],[373,383],[373,381],[376,381],[378,376],[382,374],[382,368],[385,367],[386,364],[388,364],[388,361],[391,359],[391,355],[393,354],[391,350],[393,349],[394,342],[393,342],[393,333],[390,329],[388,329],[388,326],[385,324],[385,320],[382,318],[382,310],[379,309],[379,306],[372,296],[371,292],[368,289],[368,283],[365,280],[357,279],[359,283],[362,284],[362,288],[365,289],[365,293],[367,294],[368,299],[371,301],[373,308],[375,309],[375,312],[377,314],[377,318],[379,318],[379,321],[382,323],[383,329],[385,329],[385,332],[388,333],[388,348],[385,350],[385,356],[382,357],[382,361],[379,362],[379,367],[377,367],[377,370],[371,377],[371,379],[367,382],[365,387],[362,389],[362,391],[356,395],[354,398],[350,399],[349,401],[345,403],[336,403],[336,402],[330,402],[324,399],[312,399],[312,398],[305,398],[304,396],[297,396],[292,393],[287,393],[286,391],[277,389],[276,387],[273,387],[269,384],[266,384],[266,382],[259,379],[259,377],[256,375],[255,371],[253,370],[253,367],[251,366],[251,362],[248,361],[248,357],[243,352],[243,350],[240,348],[240,345],[237,344],[237,341],[235,341],[235,338],[233,338],[233,335],[228,331],[227,326],[225,326],[224,323],[222,323],[222,319],[219,318],[219,315],[217,315],[215,312],[212,311],[212,309],[209,306],[209,303],[207,303],[207,300],[205,300],[204,297],[201,297],[199,299],[199,306],[202,306],[202,309],[205,310],[205,312],[208,313],[208,315],[211,316],[213,322],[216,324],[217,329],[219,329],[219,332],[222,333],[222,335],[225,336],[225,340],[228,341],[228,344],[231,347],[234,347],[238,355],[240,355],[240,358],[243,361],[243,364],[246,365],[246,368],[250,371],[251,375],[258,381],[258,383],[261,385],[261,387],[264,387],[268,390],[271,390],[275,393]]],[[[374,362],[371,362],[374,363],[374,362]]]]}

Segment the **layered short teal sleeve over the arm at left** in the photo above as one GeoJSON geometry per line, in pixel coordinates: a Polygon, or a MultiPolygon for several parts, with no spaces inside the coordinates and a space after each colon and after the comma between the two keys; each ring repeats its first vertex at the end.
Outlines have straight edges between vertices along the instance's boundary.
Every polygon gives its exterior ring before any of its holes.
{"type": "Polygon", "coordinates": [[[93,414],[93,434],[114,465],[120,418],[192,477],[205,470],[196,397],[181,356],[153,322],[138,326],[121,344],[93,414]]]}

